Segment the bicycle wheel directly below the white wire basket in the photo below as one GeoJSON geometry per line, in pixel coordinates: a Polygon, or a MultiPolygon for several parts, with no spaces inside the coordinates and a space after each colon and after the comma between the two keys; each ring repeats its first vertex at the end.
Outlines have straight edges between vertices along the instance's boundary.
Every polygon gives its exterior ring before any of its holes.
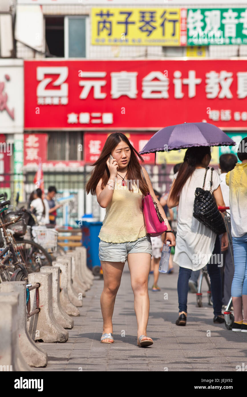
{"type": "Polygon", "coordinates": [[[16,241],[17,254],[24,260],[29,272],[39,272],[42,266],[52,266],[51,255],[39,244],[31,240],[16,241]]]}

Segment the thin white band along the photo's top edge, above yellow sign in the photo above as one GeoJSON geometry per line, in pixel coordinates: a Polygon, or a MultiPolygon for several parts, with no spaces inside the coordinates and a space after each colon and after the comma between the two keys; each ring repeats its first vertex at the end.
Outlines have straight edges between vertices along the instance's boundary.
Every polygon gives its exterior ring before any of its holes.
{"type": "MultiPolygon", "coordinates": [[[[69,4],[69,5],[82,5],[82,6],[136,6],[136,5],[148,5],[148,6],[166,6],[167,5],[182,5],[182,6],[190,6],[195,5],[204,5],[215,8],[219,4],[234,4],[233,0],[216,0],[215,4],[213,4],[212,0],[17,0],[17,4],[69,4]]],[[[246,0],[238,0],[237,4],[246,4],[246,0]]]]}

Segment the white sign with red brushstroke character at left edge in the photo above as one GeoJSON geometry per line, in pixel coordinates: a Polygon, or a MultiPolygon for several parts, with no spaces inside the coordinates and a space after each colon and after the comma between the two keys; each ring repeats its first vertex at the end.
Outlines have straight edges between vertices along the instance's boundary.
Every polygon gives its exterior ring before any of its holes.
{"type": "Polygon", "coordinates": [[[23,133],[23,60],[0,60],[0,133],[23,133]]]}

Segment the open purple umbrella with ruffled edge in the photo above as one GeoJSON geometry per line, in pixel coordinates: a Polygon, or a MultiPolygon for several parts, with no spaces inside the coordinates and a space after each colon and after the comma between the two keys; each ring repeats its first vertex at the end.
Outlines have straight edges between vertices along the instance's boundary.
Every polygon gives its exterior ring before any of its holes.
{"type": "Polygon", "coordinates": [[[140,154],[187,149],[191,146],[234,146],[220,128],[209,123],[183,123],[160,129],[140,150],[140,154]]]}

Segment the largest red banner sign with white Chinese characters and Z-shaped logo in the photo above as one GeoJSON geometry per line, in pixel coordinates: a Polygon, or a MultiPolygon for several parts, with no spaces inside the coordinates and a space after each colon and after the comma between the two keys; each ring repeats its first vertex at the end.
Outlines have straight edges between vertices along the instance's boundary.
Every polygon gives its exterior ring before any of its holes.
{"type": "Polygon", "coordinates": [[[24,61],[26,129],[247,127],[245,60],[24,61]]]}

